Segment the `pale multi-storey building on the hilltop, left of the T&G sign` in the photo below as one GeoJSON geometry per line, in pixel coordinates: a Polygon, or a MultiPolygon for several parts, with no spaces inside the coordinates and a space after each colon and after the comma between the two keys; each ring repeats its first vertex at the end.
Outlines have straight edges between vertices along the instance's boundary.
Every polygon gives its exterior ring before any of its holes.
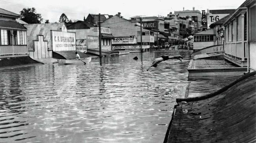
{"type": "Polygon", "coordinates": [[[174,11],[174,14],[178,14],[180,17],[191,16],[191,20],[195,22],[195,31],[200,30],[202,26],[202,14],[199,10],[195,10],[195,7],[193,7],[193,10],[184,10],[183,7],[183,11],[174,11]]]}

